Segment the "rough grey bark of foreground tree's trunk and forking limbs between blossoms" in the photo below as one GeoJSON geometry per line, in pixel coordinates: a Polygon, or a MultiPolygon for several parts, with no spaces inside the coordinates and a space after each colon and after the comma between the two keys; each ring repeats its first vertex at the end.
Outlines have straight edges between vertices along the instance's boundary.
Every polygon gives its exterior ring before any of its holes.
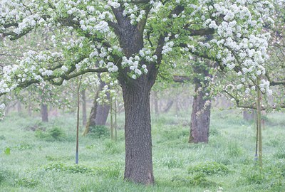
{"type": "MultiPolygon", "coordinates": [[[[145,10],[146,18],[151,6],[145,10]]],[[[127,58],[143,48],[143,31],[146,19],[136,25],[123,16],[123,8],[113,9],[118,24],[113,28],[120,41],[120,48],[127,58]]],[[[125,180],[149,185],[154,183],[152,172],[152,141],[150,125],[150,89],[158,73],[157,64],[161,63],[162,47],[165,36],[160,36],[157,46],[157,63],[149,63],[147,75],[137,80],[129,78],[128,68],[119,65],[118,80],[123,90],[125,105],[125,180]]],[[[120,59],[118,59],[120,62],[120,59]]],[[[140,65],[147,64],[141,60],[140,65]]]]}

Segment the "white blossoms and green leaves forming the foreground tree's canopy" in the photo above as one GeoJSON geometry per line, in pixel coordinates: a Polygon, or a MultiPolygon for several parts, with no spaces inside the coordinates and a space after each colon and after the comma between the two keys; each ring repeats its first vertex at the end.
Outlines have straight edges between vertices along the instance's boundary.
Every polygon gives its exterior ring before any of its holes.
{"type": "MultiPolygon", "coordinates": [[[[121,64],[128,69],[130,78],[137,79],[150,70],[149,65],[160,64],[159,55],[163,63],[171,65],[179,55],[197,53],[206,53],[227,69],[237,71],[239,80],[234,87],[239,89],[266,73],[264,63],[270,36],[262,28],[265,23],[273,23],[272,8],[270,1],[257,0],[172,0],[163,4],[132,0],[33,0],[24,4],[21,0],[0,0],[0,33],[5,36],[19,38],[35,28],[53,28],[58,32],[51,37],[54,50],[28,52],[16,65],[3,69],[0,93],[10,92],[29,80],[59,77],[72,68],[100,67],[116,73],[121,64]],[[147,15],[149,7],[152,9],[147,15]],[[113,27],[120,27],[112,11],[119,8],[123,19],[128,18],[133,26],[148,16],[145,26],[136,28],[145,27],[144,38],[150,36],[147,41],[144,39],[141,50],[130,57],[120,48],[122,42],[113,27]],[[195,34],[199,29],[214,32],[212,37],[209,33],[195,34]],[[157,45],[162,42],[161,36],[164,43],[157,45]],[[53,68],[55,65],[58,68],[53,68]]],[[[259,86],[271,93],[266,80],[259,86]]]]}

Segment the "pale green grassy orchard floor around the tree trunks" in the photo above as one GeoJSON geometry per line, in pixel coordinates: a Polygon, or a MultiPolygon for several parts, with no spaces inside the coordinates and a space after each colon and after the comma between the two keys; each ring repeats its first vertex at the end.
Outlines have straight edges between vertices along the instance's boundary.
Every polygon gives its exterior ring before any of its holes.
{"type": "Polygon", "coordinates": [[[0,191],[285,191],[282,113],[267,115],[261,174],[254,125],[237,112],[212,112],[209,144],[187,143],[189,112],[152,117],[155,186],[123,181],[123,129],[118,142],[80,137],[75,166],[74,117],[43,124],[12,114],[0,122],[0,191]]]}

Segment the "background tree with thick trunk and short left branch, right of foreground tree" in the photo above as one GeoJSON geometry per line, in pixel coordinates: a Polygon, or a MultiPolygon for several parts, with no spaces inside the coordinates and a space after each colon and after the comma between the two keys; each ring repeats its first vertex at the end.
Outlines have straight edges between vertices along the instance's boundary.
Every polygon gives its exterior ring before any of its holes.
{"type": "MultiPolygon", "coordinates": [[[[196,59],[192,63],[188,63],[186,68],[190,68],[191,75],[175,75],[173,80],[174,82],[192,82],[195,85],[189,142],[207,143],[209,141],[209,122],[212,105],[212,98],[209,95],[209,80],[211,80],[212,75],[209,74],[209,71],[214,66],[209,60],[196,59]]],[[[184,71],[186,68],[184,68],[184,71]]]]}

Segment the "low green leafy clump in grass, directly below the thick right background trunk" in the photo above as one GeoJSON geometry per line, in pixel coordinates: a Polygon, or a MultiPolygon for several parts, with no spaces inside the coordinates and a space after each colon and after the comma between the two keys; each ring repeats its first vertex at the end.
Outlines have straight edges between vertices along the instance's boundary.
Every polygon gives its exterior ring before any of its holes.
{"type": "Polygon", "coordinates": [[[228,174],[229,169],[223,164],[218,164],[216,162],[198,164],[196,166],[190,166],[188,168],[189,174],[200,173],[205,175],[222,175],[228,174]]]}

